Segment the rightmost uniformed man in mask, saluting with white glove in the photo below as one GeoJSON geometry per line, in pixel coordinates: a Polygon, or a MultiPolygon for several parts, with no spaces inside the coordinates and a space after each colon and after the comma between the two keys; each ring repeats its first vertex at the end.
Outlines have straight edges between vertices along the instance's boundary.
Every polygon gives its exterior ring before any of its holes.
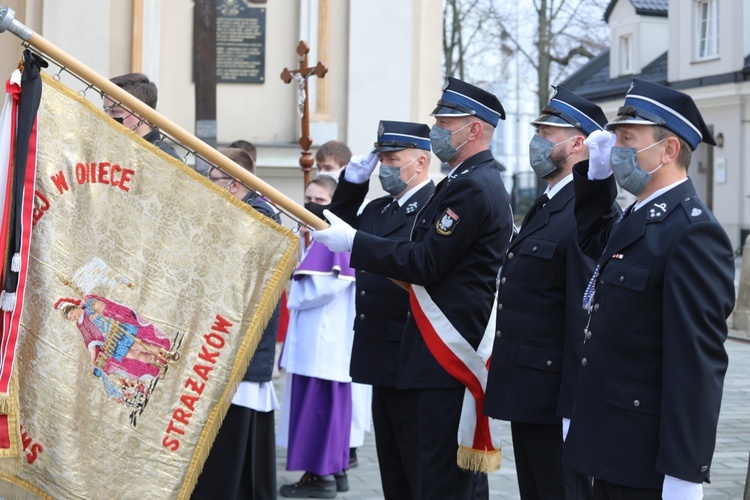
{"type": "Polygon", "coordinates": [[[690,96],[634,79],[574,167],[581,249],[598,259],[564,461],[595,498],[702,498],[734,307],[734,258],[687,176],[716,142],[690,96]],[[612,175],[614,174],[614,175],[612,175]],[[615,180],[636,203],[613,220],[615,180]]]}

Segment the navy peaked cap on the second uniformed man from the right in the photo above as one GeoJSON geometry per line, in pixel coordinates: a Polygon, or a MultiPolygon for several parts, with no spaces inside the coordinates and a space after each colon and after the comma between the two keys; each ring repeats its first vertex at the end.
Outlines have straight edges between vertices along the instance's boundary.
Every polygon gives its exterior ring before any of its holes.
{"type": "Polygon", "coordinates": [[[542,115],[531,122],[535,127],[575,127],[586,135],[603,130],[607,117],[602,108],[564,87],[553,87],[555,95],[542,108],[542,115]]]}

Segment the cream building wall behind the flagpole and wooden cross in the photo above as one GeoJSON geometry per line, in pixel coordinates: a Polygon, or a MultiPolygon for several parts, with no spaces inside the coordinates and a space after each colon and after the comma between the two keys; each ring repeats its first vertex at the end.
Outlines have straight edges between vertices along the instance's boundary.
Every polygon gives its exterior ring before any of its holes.
{"type": "MultiPolygon", "coordinates": [[[[195,131],[192,0],[6,0],[16,18],[106,77],[141,71],[159,87],[157,110],[195,131]]],[[[313,149],[336,139],[354,154],[375,141],[381,119],[431,124],[442,87],[440,0],[217,0],[218,8],[263,9],[264,79],[217,85],[217,142],[258,146],[258,175],[302,201],[298,87],[281,71],[298,66],[300,40],[310,65],[325,78],[309,80],[313,149]]],[[[0,35],[0,71],[9,75],[22,47],[0,35]]],[[[52,69],[50,68],[50,71],[52,69]]],[[[71,88],[84,86],[70,77],[71,88]]],[[[87,97],[101,100],[94,92],[87,97]]],[[[191,163],[192,159],[188,158],[191,163]]],[[[439,162],[433,162],[435,175],[439,162]]],[[[379,190],[379,185],[373,183],[379,190]]],[[[285,220],[285,223],[289,223],[285,220]]]]}

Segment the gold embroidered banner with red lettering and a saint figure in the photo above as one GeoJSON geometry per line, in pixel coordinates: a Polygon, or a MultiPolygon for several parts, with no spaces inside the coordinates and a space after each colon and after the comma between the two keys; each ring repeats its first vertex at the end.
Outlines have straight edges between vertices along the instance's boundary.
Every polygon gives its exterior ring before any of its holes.
{"type": "Polygon", "coordinates": [[[0,494],[189,496],[297,237],[45,76],[0,494]]]}

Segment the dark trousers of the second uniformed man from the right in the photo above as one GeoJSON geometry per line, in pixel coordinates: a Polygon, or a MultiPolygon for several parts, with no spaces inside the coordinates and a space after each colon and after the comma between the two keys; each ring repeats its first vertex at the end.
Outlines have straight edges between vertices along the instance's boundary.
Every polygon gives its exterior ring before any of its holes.
{"type": "Polygon", "coordinates": [[[565,498],[562,466],[562,422],[511,422],[518,489],[523,500],[565,498]]]}

